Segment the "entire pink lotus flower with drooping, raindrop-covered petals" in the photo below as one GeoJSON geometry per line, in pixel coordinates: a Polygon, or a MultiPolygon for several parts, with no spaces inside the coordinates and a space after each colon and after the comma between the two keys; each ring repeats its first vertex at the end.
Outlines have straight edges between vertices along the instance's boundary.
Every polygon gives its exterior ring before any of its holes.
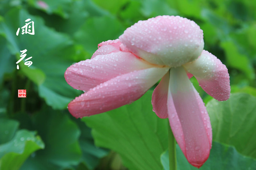
{"type": "Polygon", "coordinates": [[[68,104],[76,118],[106,112],[139,99],[161,79],[152,95],[153,111],[169,118],[174,137],[188,162],[200,167],[212,146],[212,128],[203,100],[190,82],[213,98],[230,96],[228,70],[203,50],[203,31],[179,16],[158,16],[105,41],[91,59],[68,67],[65,79],[87,91],[68,104]]]}

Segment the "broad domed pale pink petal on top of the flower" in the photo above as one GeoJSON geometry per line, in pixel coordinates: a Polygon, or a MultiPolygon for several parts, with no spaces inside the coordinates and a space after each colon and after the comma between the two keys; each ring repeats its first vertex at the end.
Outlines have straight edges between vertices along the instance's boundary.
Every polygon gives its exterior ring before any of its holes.
{"type": "Polygon", "coordinates": [[[177,67],[194,61],[204,48],[203,31],[180,16],[158,16],[127,28],[119,40],[144,60],[177,67]]]}

